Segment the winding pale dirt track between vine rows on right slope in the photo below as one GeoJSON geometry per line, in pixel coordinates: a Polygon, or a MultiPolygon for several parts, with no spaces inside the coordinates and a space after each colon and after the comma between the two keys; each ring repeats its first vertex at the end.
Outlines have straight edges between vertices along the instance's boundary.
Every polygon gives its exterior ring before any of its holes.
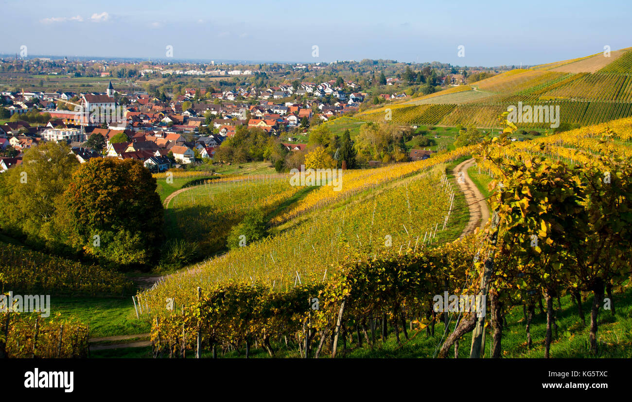
{"type": "Polygon", "coordinates": [[[483,228],[485,223],[489,220],[489,209],[487,208],[487,202],[483,200],[483,194],[478,190],[477,186],[471,180],[468,175],[468,168],[474,166],[474,159],[468,159],[465,162],[459,163],[454,167],[452,173],[456,178],[456,183],[459,186],[459,190],[465,195],[465,203],[469,205],[470,209],[470,221],[468,222],[463,233],[459,238],[463,238],[468,234],[474,233],[476,228],[483,228]],[[477,202],[478,200],[478,202],[477,202]]]}

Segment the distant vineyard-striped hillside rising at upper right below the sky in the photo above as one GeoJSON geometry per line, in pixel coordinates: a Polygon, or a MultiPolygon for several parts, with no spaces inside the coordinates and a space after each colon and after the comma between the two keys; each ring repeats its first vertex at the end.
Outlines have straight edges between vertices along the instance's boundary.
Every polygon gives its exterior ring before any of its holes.
{"type": "MultiPolygon", "coordinates": [[[[586,126],[632,116],[632,47],[516,69],[470,85],[368,109],[358,116],[408,125],[499,127],[507,107],[559,106],[560,124],[586,126]]],[[[550,128],[550,122],[521,123],[550,128]]]]}

